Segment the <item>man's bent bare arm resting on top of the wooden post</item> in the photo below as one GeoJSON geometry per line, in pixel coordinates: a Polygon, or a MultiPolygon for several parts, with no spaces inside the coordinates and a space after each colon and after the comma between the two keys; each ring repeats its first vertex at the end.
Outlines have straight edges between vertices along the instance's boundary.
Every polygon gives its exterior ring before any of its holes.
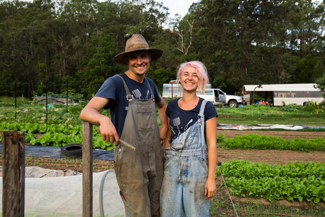
{"type": "Polygon", "coordinates": [[[110,143],[115,141],[115,145],[120,143],[120,138],[116,128],[110,118],[102,115],[99,111],[110,101],[110,99],[102,97],[93,97],[84,109],[80,112],[80,119],[94,125],[100,125],[99,130],[103,140],[110,143]]]}

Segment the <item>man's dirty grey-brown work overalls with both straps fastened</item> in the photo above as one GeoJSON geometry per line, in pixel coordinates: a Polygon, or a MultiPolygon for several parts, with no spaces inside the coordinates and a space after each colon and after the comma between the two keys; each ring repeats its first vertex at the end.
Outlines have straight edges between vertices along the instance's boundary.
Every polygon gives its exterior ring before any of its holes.
{"type": "Polygon", "coordinates": [[[135,152],[121,145],[114,147],[114,167],[125,215],[160,216],[163,153],[154,96],[149,82],[151,98],[146,100],[133,98],[124,80],[123,84],[129,106],[121,139],[136,147],[135,152]]]}

